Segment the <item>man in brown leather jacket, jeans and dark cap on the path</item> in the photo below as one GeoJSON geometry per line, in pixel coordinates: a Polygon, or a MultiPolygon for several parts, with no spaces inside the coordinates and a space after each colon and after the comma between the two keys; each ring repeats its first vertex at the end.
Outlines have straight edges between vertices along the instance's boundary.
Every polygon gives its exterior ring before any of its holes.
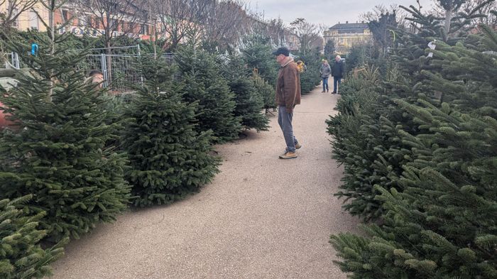
{"type": "Polygon", "coordinates": [[[278,80],[276,80],[276,105],[278,106],[278,124],[285,137],[286,149],[280,159],[297,158],[295,149],[301,148],[293,136],[293,109],[300,104],[300,73],[297,64],[290,58],[288,48],[278,48],[273,55],[280,63],[278,80]]]}

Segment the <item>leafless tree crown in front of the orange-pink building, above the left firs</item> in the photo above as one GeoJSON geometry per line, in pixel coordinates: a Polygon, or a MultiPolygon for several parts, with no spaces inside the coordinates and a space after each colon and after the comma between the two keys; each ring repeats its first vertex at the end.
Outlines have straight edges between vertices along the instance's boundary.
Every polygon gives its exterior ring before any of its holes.
{"type": "Polygon", "coordinates": [[[205,21],[208,4],[209,1],[202,0],[155,0],[160,33],[171,49],[175,50],[182,40],[196,33],[205,21]]]}

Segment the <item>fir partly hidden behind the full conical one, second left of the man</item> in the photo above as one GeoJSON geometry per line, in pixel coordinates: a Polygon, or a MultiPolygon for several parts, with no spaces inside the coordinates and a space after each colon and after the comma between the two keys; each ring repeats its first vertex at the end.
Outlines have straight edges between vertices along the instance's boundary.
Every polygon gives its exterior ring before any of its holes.
{"type": "Polygon", "coordinates": [[[212,130],[217,142],[238,138],[241,118],[234,116],[235,96],[221,76],[214,55],[185,47],[175,54],[175,61],[185,82],[183,99],[199,104],[197,131],[212,130]]]}

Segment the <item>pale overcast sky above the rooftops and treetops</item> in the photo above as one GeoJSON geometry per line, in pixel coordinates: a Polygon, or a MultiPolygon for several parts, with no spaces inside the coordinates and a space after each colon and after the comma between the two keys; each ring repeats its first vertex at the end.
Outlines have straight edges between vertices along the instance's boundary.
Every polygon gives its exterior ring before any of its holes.
{"type": "MultiPolygon", "coordinates": [[[[307,22],[333,26],[340,23],[361,22],[361,14],[373,11],[374,6],[410,6],[415,0],[246,0],[251,11],[264,13],[264,18],[280,17],[288,25],[295,18],[305,18],[307,22]]],[[[430,9],[432,0],[420,0],[425,11],[430,9]]]]}

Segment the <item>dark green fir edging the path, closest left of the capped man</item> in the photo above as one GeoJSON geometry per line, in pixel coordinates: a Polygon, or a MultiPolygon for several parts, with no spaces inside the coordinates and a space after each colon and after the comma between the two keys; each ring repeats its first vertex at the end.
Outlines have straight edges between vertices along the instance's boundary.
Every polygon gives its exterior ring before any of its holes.
{"type": "Polygon", "coordinates": [[[253,84],[244,60],[239,56],[230,55],[223,67],[223,76],[228,81],[231,92],[235,94],[235,116],[241,117],[241,125],[246,129],[256,131],[268,130],[268,118],[262,113],[263,99],[253,84]]]}

